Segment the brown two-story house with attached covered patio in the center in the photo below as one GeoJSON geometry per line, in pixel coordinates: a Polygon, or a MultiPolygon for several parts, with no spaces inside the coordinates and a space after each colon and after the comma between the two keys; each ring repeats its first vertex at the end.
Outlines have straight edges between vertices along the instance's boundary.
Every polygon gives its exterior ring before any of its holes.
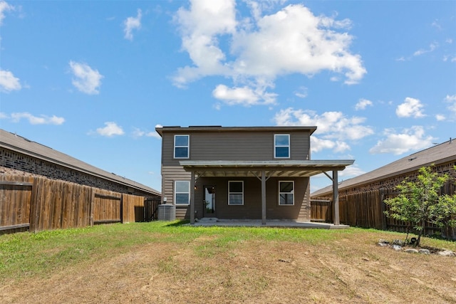
{"type": "Polygon", "coordinates": [[[310,221],[310,177],[333,172],[326,175],[337,187],[337,172],[354,162],[311,160],[316,127],[155,130],[162,137],[162,200],[191,224],[202,217],[310,221]]]}

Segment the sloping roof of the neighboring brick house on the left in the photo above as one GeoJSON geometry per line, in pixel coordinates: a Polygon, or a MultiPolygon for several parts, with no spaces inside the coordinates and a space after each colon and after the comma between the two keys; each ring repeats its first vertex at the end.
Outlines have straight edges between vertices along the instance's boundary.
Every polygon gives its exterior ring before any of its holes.
{"type": "Polygon", "coordinates": [[[157,190],[147,187],[143,184],[140,184],[130,179],[126,179],[125,177],[120,177],[114,173],[98,169],[97,167],[93,167],[92,165],[87,164],[86,162],[82,162],[81,160],[78,160],[67,154],[58,152],[50,147],[41,145],[38,142],[33,142],[31,140],[26,139],[25,137],[21,137],[19,135],[1,129],[0,147],[4,147],[6,149],[19,152],[21,154],[26,154],[37,159],[42,159],[46,162],[58,164],[68,169],[73,169],[78,172],[90,174],[100,179],[106,179],[110,182],[122,184],[133,189],[138,189],[143,192],[150,192],[155,195],[161,195],[160,192],[158,192],[157,190]]]}

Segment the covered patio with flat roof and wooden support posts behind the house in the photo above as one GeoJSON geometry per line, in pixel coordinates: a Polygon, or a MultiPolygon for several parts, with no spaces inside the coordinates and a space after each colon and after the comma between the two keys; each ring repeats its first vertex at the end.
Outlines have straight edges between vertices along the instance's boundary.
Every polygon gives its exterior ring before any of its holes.
{"type": "MultiPolygon", "coordinates": [[[[204,161],[184,160],[180,165],[187,172],[191,172],[190,179],[190,224],[195,223],[195,182],[199,177],[257,177],[261,181],[261,226],[277,225],[283,226],[285,221],[280,223],[276,220],[266,219],[266,181],[271,177],[312,177],[316,174],[326,174],[333,182],[334,201],[334,223],[333,226],[340,226],[339,203],[338,203],[338,171],[342,171],[353,164],[353,159],[337,160],[279,160],[279,161],[204,161]],[[326,172],[332,172],[332,176],[326,172]]],[[[246,221],[247,222],[247,221],[246,221]]],[[[257,221],[249,221],[250,224],[257,221]]],[[[242,221],[214,221],[219,226],[235,226],[242,221]],[[227,224],[222,224],[227,223],[227,224]],[[229,223],[229,224],[228,224],[229,223]]],[[[244,223],[246,224],[246,223],[244,223]]],[[[310,222],[288,221],[287,225],[328,225],[310,222]]],[[[199,225],[199,224],[198,224],[199,225]]]]}

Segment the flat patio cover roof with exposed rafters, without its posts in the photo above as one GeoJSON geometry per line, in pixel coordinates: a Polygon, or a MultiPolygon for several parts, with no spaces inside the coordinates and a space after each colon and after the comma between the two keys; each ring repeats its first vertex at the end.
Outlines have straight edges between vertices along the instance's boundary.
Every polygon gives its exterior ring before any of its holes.
{"type": "Polygon", "coordinates": [[[328,171],[342,171],[354,159],[274,160],[274,161],[205,161],[182,160],[185,171],[198,177],[311,177],[328,171]]]}

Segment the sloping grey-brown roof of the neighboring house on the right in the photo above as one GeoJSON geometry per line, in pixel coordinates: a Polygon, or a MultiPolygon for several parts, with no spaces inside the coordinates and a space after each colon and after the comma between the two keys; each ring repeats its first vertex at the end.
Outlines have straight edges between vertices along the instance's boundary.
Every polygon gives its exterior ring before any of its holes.
{"type": "MultiPolygon", "coordinates": [[[[381,179],[388,179],[400,174],[414,172],[420,169],[420,167],[427,167],[430,164],[438,165],[452,161],[456,162],[456,140],[450,139],[449,141],[443,142],[440,145],[435,145],[425,150],[410,154],[407,157],[398,159],[395,162],[386,164],[385,166],[375,169],[366,174],[361,174],[358,177],[353,177],[352,179],[347,179],[343,182],[340,182],[338,189],[340,191],[361,184],[370,184],[381,179]]],[[[328,186],[316,192],[313,192],[311,196],[319,196],[331,192],[332,187],[328,186]]]]}

